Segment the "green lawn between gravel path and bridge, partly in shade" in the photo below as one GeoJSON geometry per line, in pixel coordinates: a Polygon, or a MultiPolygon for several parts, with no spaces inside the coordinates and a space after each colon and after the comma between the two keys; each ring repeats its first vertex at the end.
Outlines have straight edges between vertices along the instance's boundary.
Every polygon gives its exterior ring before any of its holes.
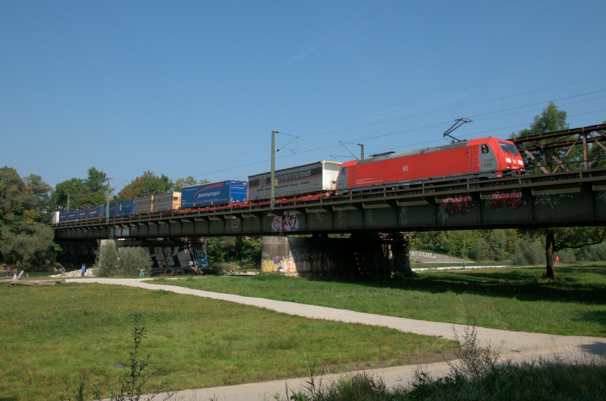
{"type": "MultiPolygon", "coordinates": [[[[295,277],[158,281],[199,290],[514,331],[606,337],[606,267],[494,268],[417,273],[382,282],[295,277]]],[[[265,276],[267,277],[267,276],[265,276]]]]}

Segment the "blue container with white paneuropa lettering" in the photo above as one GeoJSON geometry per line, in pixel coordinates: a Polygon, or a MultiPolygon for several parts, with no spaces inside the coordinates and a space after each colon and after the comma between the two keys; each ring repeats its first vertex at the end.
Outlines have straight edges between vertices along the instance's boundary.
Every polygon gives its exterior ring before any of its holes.
{"type": "Polygon", "coordinates": [[[221,206],[247,200],[248,182],[220,181],[181,188],[181,207],[221,206]]]}

